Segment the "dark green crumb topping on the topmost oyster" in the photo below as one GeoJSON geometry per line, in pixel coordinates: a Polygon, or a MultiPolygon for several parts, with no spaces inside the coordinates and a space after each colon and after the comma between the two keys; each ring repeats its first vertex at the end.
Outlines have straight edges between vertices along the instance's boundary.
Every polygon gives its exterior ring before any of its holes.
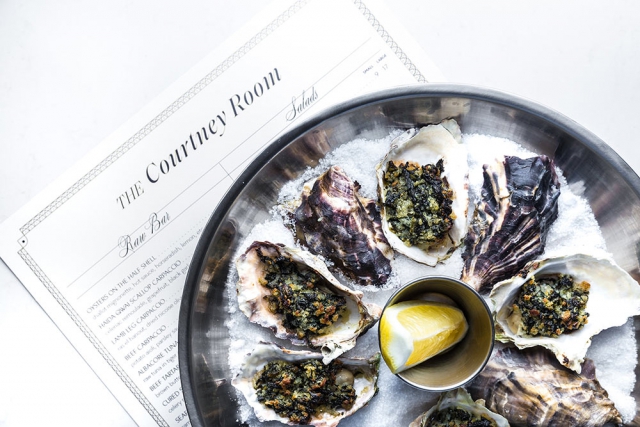
{"type": "Polygon", "coordinates": [[[390,229],[407,246],[439,243],[453,226],[453,191],[440,159],[435,165],[396,165],[384,174],[384,206],[390,229]]]}

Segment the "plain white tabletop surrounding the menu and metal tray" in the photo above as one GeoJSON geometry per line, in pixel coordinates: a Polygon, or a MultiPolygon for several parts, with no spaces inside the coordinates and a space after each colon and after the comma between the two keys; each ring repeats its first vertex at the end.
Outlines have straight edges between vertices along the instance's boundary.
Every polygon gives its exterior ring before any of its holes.
{"type": "MultiPolygon", "coordinates": [[[[449,81],[551,107],[640,171],[640,2],[385,1],[449,81]]],[[[0,221],[267,4],[0,1],[0,221]]],[[[2,426],[135,425],[2,263],[0,384],[2,426]]]]}

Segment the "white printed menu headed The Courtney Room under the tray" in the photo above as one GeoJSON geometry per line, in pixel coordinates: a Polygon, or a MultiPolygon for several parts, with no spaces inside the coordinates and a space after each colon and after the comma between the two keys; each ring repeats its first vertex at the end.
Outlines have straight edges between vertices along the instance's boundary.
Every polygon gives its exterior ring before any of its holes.
{"type": "Polygon", "coordinates": [[[367,91],[441,80],[374,1],[274,3],[0,228],[0,256],[141,426],[187,426],[184,279],[271,140],[367,91]]]}

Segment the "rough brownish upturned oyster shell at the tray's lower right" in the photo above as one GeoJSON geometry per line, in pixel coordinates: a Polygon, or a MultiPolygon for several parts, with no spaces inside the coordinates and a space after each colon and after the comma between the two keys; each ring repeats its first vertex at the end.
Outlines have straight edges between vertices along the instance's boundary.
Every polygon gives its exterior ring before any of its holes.
{"type": "Polygon", "coordinates": [[[591,360],[587,359],[582,373],[577,374],[540,348],[496,351],[467,389],[512,426],[622,423],[620,413],[595,378],[591,360]]]}

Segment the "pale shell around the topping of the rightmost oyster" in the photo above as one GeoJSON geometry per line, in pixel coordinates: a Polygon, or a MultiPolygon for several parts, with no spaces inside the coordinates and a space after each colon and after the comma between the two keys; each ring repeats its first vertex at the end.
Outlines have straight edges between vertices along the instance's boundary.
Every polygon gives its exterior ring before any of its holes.
{"type": "Polygon", "coordinates": [[[561,364],[576,372],[580,372],[580,364],[594,335],[623,325],[627,318],[640,314],[640,285],[613,262],[582,254],[532,261],[517,276],[498,283],[490,298],[495,307],[496,339],[512,341],[519,348],[548,348],[561,364]],[[532,277],[557,274],[570,275],[576,283],[590,284],[586,303],[588,322],[555,338],[519,335],[517,328],[509,323],[520,289],[532,277]]]}

